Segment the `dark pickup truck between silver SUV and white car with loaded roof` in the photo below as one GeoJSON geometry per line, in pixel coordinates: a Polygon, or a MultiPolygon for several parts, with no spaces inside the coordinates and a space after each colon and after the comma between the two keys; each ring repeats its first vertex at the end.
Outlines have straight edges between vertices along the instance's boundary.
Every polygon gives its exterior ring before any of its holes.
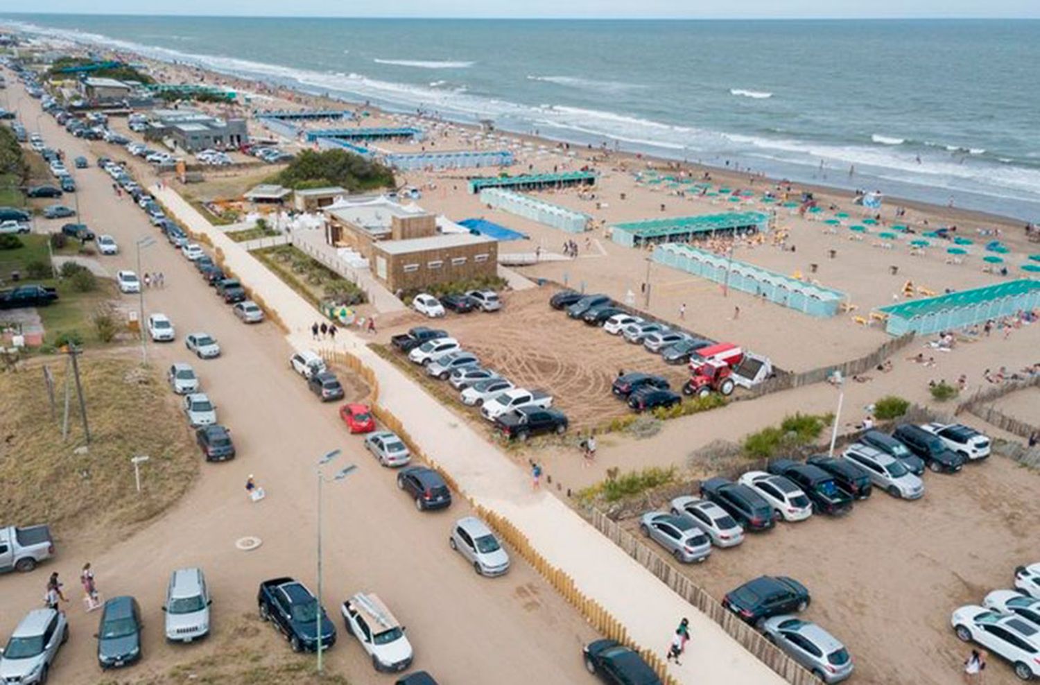
{"type": "Polygon", "coordinates": [[[320,616],[321,649],[336,643],[336,627],[318,605],[311,590],[292,578],[274,578],[260,583],[257,592],[260,618],[275,624],[285,635],[293,652],[313,652],[317,649],[320,616]]]}

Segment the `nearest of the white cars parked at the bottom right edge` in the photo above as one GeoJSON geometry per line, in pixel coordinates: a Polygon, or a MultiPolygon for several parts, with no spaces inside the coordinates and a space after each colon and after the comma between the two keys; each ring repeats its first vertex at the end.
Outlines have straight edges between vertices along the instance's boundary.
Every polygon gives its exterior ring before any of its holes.
{"type": "Polygon", "coordinates": [[[954,611],[950,623],[965,642],[978,642],[1010,661],[1021,680],[1040,677],[1040,627],[973,604],[954,611]]]}

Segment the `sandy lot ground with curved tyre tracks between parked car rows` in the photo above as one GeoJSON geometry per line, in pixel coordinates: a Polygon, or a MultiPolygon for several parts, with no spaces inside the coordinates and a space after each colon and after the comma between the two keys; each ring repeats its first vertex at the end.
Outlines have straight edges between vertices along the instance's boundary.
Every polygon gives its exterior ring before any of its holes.
{"type": "MultiPolygon", "coordinates": [[[[517,386],[550,393],[553,405],[567,414],[572,428],[587,428],[629,413],[610,393],[620,369],[664,375],[675,390],[685,383],[685,366],[665,364],[642,345],[550,308],[548,300],[554,292],[546,287],[508,293],[501,312],[448,314],[431,325],[443,327],[485,366],[517,386]]],[[[418,315],[402,319],[393,334],[422,323],[418,315]]]]}

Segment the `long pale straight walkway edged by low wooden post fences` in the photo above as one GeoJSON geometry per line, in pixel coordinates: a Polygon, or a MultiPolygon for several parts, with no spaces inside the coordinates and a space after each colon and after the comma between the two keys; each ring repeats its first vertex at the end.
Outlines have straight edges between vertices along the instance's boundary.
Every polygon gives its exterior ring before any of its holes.
{"type": "MultiPolygon", "coordinates": [[[[191,231],[206,234],[224,252],[228,266],[238,279],[278,310],[290,331],[293,346],[297,349],[315,346],[310,326],[319,315],[306,300],[249,255],[241,244],[210,226],[176,192],[166,189],[156,194],[191,231]]],[[[344,330],[336,346],[372,368],[380,381],[380,402],[397,417],[407,419],[412,437],[451,474],[460,488],[476,503],[512,521],[548,562],[570,575],[582,592],[620,621],[638,644],[664,655],[672,631],[681,617],[687,616],[693,639],[682,665],[669,665],[669,673],[676,680],[691,685],[784,683],[566,504],[547,492],[532,492],[526,472],[375,355],[363,339],[344,330]]]]}

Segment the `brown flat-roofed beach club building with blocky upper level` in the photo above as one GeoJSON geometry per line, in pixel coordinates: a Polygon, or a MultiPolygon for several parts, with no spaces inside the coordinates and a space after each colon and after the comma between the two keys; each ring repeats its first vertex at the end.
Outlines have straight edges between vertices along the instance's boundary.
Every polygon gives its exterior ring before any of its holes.
{"type": "Polygon", "coordinates": [[[392,292],[497,272],[494,239],[439,221],[417,205],[383,195],[344,197],[324,214],[326,241],[367,259],[371,273],[392,292]],[[458,232],[444,232],[448,225],[458,232]]]}

